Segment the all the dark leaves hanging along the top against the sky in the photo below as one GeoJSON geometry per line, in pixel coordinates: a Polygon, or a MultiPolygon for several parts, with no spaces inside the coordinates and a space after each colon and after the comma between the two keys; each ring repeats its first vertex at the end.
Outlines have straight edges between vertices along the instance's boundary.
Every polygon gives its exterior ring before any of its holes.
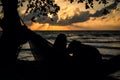
{"type": "MultiPolygon", "coordinates": [[[[26,0],[19,0],[18,2],[18,7],[19,6],[23,6],[23,2],[25,2],[26,0]]],[[[69,1],[70,3],[75,2],[76,0],[66,0],[69,1]]],[[[95,0],[96,2],[98,2],[99,4],[104,4],[104,6],[106,6],[106,4],[109,3],[108,0],[95,0]]],[[[116,2],[120,2],[120,0],[115,0],[116,2]]],[[[77,0],[78,3],[85,3],[85,8],[89,9],[89,8],[94,8],[94,0],[77,0]]],[[[31,14],[31,13],[35,13],[35,15],[33,15],[33,17],[31,18],[31,21],[36,22],[38,18],[40,18],[41,16],[48,16],[52,15],[53,17],[55,15],[57,15],[58,11],[60,10],[60,7],[55,4],[55,0],[28,0],[28,4],[27,4],[27,9],[25,14],[31,14]]],[[[107,9],[105,9],[106,11],[108,11],[107,9]]],[[[104,11],[103,14],[107,15],[109,14],[109,12],[104,11]]],[[[53,21],[53,19],[50,17],[51,21],[53,21]]]]}

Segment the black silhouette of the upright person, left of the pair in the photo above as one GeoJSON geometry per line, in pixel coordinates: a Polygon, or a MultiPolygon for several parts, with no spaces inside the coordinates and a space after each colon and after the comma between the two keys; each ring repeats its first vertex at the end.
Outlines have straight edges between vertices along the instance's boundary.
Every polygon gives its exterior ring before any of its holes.
{"type": "Polygon", "coordinates": [[[59,34],[53,45],[53,55],[57,60],[65,58],[67,39],[65,34],[59,34]]]}

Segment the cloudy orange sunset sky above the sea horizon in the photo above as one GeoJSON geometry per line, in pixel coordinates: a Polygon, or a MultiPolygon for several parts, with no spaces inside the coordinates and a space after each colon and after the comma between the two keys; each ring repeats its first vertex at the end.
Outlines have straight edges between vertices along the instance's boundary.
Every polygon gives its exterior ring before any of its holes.
{"type": "Polygon", "coordinates": [[[38,22],[31,22],[33,14],[24,14],[27,2],[18,12],[31,30],[120,30],[120,3],[115,6],[114,0],[109,1],[106,7],[111,9],[111,12],[107,15],[102,14],[103,4],[94,2],[94,8],[85,9],[84,3],[71,4],[66,0],[55,0],[60,11],[53,17],[53,21],[48,17],[41,17],[38,22]]]}

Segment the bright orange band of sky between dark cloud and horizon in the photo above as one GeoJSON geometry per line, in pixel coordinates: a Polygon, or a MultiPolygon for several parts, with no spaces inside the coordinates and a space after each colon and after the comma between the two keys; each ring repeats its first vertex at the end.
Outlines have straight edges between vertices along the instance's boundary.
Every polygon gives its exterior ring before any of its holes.
{"type": "Polygon", "coordinates": [[[76,22],[67,25],[51,25],[49,23],[32,23],[32,30],[120,30],[120,12],[113,10],[110,14],[94,18],[85,22],[76,22]]]}

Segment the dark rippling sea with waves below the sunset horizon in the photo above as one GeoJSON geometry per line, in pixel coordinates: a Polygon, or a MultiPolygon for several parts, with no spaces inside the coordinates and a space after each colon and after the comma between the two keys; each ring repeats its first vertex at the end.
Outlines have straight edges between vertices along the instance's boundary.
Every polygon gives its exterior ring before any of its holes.
{"type": "MultiPolygon", "coordinates": [[[[67,44],[77,40],[83,44],[96,47],[103,55],[103,59],[120,54],[120,31],[35,31],[37,34],[54,43],[58,34],[67,36],[67,44]]],[[[18,59],[34,60],[29,43],[22,45],[18,59]]]]}

